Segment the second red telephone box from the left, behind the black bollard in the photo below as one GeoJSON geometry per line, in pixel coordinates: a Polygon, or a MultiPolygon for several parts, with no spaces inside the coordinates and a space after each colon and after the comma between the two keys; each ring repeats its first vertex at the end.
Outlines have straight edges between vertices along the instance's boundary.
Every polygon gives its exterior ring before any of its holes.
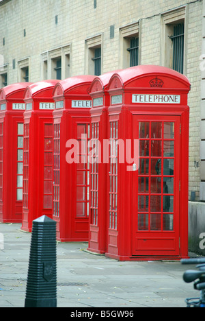
{"type": "Polygon", "coordinates": [[[33,219],[52,217],[53,88],[58,80],[45,80],[25,89],[23,145],[22,230],[31,232],[33,219]]]}

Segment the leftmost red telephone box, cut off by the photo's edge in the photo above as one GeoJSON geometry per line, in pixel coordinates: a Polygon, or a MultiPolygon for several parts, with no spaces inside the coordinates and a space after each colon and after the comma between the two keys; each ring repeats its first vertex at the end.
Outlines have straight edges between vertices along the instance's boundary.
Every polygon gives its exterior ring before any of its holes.
{"type": "Polygon", "coordinates": [[[0,90],[0,222],[20,223],[23,199],[23,94],[28,82],[0,90]]]}

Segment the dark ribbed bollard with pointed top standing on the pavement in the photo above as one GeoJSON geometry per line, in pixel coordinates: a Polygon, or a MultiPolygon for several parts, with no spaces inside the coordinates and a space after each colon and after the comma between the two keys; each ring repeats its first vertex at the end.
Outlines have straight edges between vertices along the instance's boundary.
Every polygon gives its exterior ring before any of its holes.
{"type": "Polygon", "coordinates": [[[25,307],[57,307],[56,222],[33,221],[25,307]]]}

